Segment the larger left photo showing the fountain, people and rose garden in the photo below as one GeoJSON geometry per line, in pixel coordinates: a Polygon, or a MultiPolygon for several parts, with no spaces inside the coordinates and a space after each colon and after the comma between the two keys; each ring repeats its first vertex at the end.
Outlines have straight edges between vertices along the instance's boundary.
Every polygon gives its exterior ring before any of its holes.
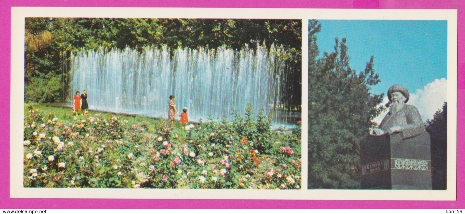
{"type": "Polygon", "coordinates": [[[22,187],[301,189],[301,60],[298,19],[26,17],[22,187]]]}

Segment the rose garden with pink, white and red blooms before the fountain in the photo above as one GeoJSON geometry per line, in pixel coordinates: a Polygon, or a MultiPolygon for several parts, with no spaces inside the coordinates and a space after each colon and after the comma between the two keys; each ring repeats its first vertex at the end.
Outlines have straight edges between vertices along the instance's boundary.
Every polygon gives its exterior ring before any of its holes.
{"type": "MultiPolygon", "coordinates": [[[[299,189],[301,135],[263,111],[181,127],[26,104],[24,187],[299,189]],[[42,110],[40,110],[42,109],[42,110]]],[[[97,113],[97,114],[96,114],[97,113]]]]}

